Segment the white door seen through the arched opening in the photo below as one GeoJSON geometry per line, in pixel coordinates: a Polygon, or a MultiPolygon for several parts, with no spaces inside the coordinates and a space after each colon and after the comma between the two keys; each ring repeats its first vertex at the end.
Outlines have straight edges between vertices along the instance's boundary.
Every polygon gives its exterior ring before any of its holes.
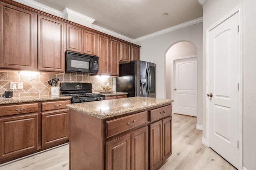
{"type": "Polygon", "coordinates": [[[174,113],[197,116],[196,57],[174,61],[174,113]]]}

